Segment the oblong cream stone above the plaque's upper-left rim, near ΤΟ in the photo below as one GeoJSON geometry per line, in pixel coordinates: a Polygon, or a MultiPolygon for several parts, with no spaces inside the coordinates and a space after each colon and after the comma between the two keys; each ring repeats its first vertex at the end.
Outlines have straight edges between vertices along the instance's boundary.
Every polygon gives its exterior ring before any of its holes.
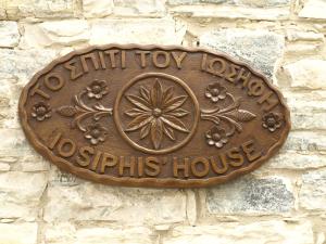
{"type": "Polygon", "coordinates": [[[22,49],[70,47],[88,41],[90,29],[87,21],[70,20],[24,24],[22,49]]]}

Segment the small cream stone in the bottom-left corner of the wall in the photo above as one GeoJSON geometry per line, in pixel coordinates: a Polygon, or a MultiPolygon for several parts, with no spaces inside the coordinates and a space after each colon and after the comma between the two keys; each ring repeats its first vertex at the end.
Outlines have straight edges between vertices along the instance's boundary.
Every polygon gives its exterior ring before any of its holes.
{"type": "Polygon", "coordinates": [[[0,223],[1,244],[36,244],[36,223],[0,223]]]}

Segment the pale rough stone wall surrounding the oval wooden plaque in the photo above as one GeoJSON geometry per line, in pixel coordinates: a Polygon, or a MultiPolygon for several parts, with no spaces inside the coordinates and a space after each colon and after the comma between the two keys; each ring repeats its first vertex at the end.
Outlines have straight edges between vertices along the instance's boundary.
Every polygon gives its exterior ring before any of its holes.
{"type": "Polygon", "coordinates": [[[0,243],[326,243],[325,0],[0,0],[0,243]],[[60,171],[17,100],[52,59],[102,43],[209,47],[262,70],[291,110],[285,146],[209,189],[133,189],[60,171]]]}

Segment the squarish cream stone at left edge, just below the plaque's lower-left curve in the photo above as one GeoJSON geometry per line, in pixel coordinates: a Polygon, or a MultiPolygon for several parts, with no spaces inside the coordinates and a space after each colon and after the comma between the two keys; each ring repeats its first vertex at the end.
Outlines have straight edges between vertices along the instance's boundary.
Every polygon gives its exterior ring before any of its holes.
{"type": "Polygon", "coordinates": [[[36,219],[46,185],[47,175],[42,172],[1,172],[0,218],[36,219]]]}

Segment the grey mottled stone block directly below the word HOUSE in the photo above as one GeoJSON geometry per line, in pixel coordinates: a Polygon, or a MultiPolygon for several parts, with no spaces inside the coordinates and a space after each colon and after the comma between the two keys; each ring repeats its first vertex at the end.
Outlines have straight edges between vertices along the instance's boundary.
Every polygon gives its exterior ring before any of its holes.
{"type": "Polygon", "coordinates": [[[293,207],[290,182],[283,178],[243,177],[208,191],[211,214],[286,213],[293,207]]]}

